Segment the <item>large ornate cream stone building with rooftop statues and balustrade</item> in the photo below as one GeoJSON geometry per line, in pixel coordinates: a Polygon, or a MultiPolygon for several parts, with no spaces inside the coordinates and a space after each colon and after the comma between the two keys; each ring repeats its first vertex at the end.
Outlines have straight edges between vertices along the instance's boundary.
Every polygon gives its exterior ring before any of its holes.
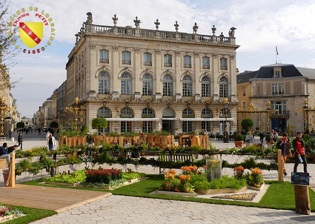
{"type": "MultiPolygon", "coordinates": [[[[219,132],[224,124],[227,97],[230,131],[236,130],[236,49],[229,36],[140,29],[93,24],[92,13],[76,34],[66,64],[65,106],[76,96],[86,106],[85,122],[106,118],[107,131],[167,130],[178,134],[207,129],[219,132]]],[[[70,115],[69,119],[71,119],[70,115]]],[[[97,131],[97,130],[95,130],[97,131]]]]}

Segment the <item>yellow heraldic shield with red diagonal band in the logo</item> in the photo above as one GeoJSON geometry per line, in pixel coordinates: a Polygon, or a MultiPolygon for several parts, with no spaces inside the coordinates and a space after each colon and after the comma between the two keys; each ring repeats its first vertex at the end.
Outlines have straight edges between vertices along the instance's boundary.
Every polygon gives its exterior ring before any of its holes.
{"type": "Polygon", "coordinates": [[[23,43],[33,48],[40,43],[44,35],[44,24],[37,22],[20,22],[20,37],[23,43]]]}

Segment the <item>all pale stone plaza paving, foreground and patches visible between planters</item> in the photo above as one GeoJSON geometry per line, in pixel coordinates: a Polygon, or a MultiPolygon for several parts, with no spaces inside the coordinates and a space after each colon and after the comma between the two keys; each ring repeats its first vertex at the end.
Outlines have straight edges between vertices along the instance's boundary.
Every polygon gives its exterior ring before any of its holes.
{"type": "MultiPolygon", "coordinates": [[[[16,135],[16,133],[14,133],[16,135]]],[[[7,139],[8,140],[8,139],[7,139]]],[[[256,141],[258,139],[255,139],[256,141]]],[[[14,145],[16,142],[7,141],[8,145],[14,145]]],[[[223,143],[222,141],[212,141],[213,145],[219,149],[231,148],[234,143],[223,143]]],[[[24,133],[23,150],[31,149],[35,146],[46,145],[45,135],[38,133],[24,133]]],[[[222,160],[230,163],[242,161],[246,157],[222,155],[222,160]]],[[[220,156],[219,158],[220,159],[220,156]]],[[[17,162],[20,159],[17,160],[17,162]]],[[[260,160],[258,160],[260,161],[260,160]]],[[[262,160],[265,163],[274,162],[273,160],[262,160]]],[[[293,170],[294,163],[287,163],[286,168],[290,172],[293,170]]],[[[67,170],[75,171],[83,169],[85,164],[65,165],[59,167],[58,172],[67,170]]],[[[104,167],[123,168],[119,164],[103,165],[104,167]]],[[[152,166],[134,167],[128,164],[128,167],[138,172],[147,174],[158,174],[158,168],[152,166]]],[[[298,167],[302,171],[303,166],[298,167]]],[[[308,164],[310,175],[315,177],[315,164],[308,164]]],[[[230,168],[223,168],[222,174],[232,175],[230,168]]],[[[42,171],[35,177],[19,176],[17,183],[25,182],[40,177],[48,177],[48,173],[42,171]]],[[[277,180],[278,173],[275,170],[263,170],[265,180],[277,180]]],[[[315,178],[310,182],[315,183],[315,178]]],[[[289,175],[284,178],[290,181],[289,175]]],[[[3,186],[2,171],[0,170],[0,186],[3,186]]],[[[198,202],[162,200],[142,197],[130,197],[111,195],[94,202],[81,205],[57,215],[47,217],[33,222],[35,224],[290,224],[290,223],[315,223],[315,215],[298,215],[294,211],[275,210],[265,208],[240,207],[231,205],[206,204],[198,202]]]]}

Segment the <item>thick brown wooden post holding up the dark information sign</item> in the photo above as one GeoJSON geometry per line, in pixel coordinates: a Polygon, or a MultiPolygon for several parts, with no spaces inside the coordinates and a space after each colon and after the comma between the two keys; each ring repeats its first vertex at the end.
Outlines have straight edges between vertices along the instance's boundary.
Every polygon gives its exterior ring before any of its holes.
{"type": "Polygon", "coordinates": [[[294,195],[295,195],[295,213],[310,215],[311,205],[310,205],[309,186],[294,185],[294,195]]]}

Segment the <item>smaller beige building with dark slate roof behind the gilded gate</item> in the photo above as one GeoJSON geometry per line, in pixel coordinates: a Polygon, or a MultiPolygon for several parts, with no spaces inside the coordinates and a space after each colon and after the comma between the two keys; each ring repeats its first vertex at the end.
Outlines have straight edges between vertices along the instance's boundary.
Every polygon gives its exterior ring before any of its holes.
{"type": "MultiPolygon", "coordinates": [[[[278,110],[271,117],[271,129],[284,131],[294,126],[296,131],[304,131],[304,100],[315,107],[315,69],[295,67],[293,64],[270,64],[256,71],[246,71],[237,76],[239,107],[246,109],[252,103],[255,108],[278,110]]],[[[254,128],[259,127],[255,119],[254,128]]],[[[314,118],[313,118],[314,121],[314,118]]],[[[310,124],[311,126],[311,124],[310,124]]],[[[313,127],[310,127],[310,131],[313,127]]],[[[269,130],[270,131],[270,130],[269,130]]]]}

